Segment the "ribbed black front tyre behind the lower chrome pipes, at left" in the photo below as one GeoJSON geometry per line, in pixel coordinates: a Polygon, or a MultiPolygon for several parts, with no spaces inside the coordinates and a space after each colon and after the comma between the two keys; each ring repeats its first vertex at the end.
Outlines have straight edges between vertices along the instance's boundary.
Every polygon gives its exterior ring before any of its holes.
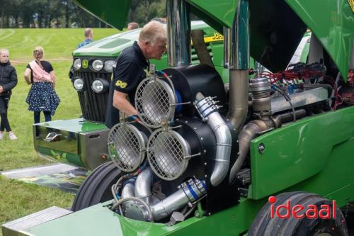
{"type": "Polygon", "coordinates": [[[120,177],[113,162],[105,162],[91,172],[76,193],[72,210],[77,211],[113,198],[110,187],[120,177]]]}

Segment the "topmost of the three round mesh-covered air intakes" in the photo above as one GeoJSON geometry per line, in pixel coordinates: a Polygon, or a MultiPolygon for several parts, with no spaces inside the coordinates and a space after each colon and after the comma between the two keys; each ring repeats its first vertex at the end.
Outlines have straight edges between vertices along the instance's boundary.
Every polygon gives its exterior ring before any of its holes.
{"type": "Polygon", "coordinates": [[[135,107],[139,118],[151,128],[161,127],[161,123],[173,118],[176,96],[173,86],[161,79],[147,78],[140,82],[135,94],[135,107]]]}

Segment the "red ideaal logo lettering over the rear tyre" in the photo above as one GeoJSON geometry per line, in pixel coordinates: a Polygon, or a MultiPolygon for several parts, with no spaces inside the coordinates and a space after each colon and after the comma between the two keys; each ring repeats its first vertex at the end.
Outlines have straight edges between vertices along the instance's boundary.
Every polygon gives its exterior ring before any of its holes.
{"type": "Polygon", "coordinates": [[[332,201],[332,206],[321,205],[317,208],[316,205],[309,204],[308,206],[302,206],[297,204],[290,206],[290,200],[287,200],[285,204],[274,206],[277,198],[270,196],[268,202],[270,203],[270,218],[278,217],[280,219],[289,219],[290,215],[295,219],[335,219],[336,218],[336,201],[332,201]]]}

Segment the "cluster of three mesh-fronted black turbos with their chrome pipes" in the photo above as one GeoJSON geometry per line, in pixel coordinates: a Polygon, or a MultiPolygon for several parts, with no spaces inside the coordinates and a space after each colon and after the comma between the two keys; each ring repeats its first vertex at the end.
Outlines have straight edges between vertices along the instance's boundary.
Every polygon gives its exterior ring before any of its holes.
{"type": "Polygon", "coordinates": [[[215,69],[152,74],[137,87],[135,107],[139,116],[115,125],[108,136],[111,159],[129,173],[112,188],[114,210],[166,221],[178,210],[187,217],[203,198],[208,214],[238,203],[236,184],[229,183],[237,133],[225,118],[227,96],[215,69]]]}

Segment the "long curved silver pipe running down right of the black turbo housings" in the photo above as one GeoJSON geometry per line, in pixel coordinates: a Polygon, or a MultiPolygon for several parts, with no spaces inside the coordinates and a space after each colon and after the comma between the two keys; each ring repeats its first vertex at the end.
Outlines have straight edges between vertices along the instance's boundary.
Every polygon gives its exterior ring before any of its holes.
{"type": "Polygon", "coordinates": [[[217,153],[215,157],[215,168],[210,176],[212,186],[219,185],[227,176],[229,171],[230,154],[232,148],[232,136],[222,116],[217,112],[219,106],[212,98],[205,98],[202,93],[195,96],[195,108],[197,108],[202,119],[212,128],[217,139],[217,153]]]}

